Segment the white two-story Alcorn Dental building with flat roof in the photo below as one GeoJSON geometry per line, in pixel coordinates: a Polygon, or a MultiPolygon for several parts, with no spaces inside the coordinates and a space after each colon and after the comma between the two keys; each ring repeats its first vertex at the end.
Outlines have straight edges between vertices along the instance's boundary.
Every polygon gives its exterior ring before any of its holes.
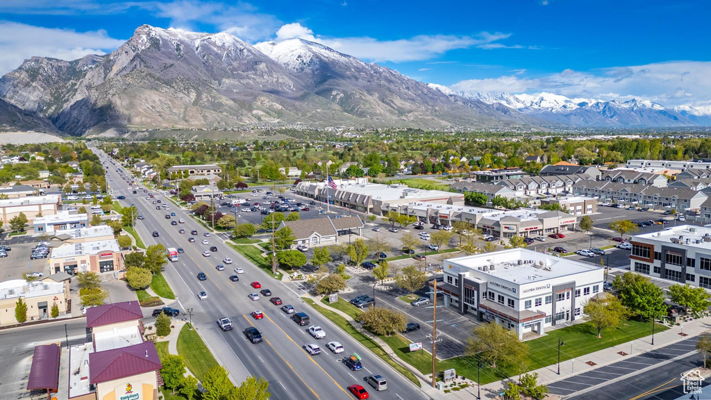
{"type": "Polygon", "coordinates": [[[545,333],[578,320],[602,293],[602,268],[523,248],[444,260],[444,306],[512,330],[545,333]]]}

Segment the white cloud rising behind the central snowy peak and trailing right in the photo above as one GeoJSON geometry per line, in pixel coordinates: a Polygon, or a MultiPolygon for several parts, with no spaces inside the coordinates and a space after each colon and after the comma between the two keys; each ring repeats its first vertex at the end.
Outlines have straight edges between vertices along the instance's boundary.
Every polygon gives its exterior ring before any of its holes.
{"type": "Polygon", "coordinates": [[[368,36],[328,38],[314,35],[311,29],[300,23],[287,23],[277,31],[277,40],[302,38],[321,43],[361,60],[395,63],[428,60],[459,48],[489,48],[488,46],[494,42],[502,41],[510,36],[510,33],[481,32],[474,36],[420,35],[394,41],[381,41],[368,36]]]}

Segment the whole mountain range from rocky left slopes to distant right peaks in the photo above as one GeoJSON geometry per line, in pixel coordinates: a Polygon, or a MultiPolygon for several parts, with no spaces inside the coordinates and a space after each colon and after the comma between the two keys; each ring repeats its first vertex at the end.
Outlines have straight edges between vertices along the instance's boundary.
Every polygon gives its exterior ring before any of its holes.
{"type": "Polygon", "coordinates": [[[456,93],[319,43],[139,26],[116,51],[0,78],[0,128],[69,135],[243,127],[535,130],[711,125],[711,110],[550,93],[456,93]]]}

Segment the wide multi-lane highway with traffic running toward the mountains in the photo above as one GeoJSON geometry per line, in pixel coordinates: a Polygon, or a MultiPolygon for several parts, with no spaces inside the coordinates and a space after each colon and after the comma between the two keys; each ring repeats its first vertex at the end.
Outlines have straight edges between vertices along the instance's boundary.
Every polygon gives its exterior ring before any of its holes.
{"type": "Polygon", "coordinates": [[[209,237],[203,236],[208,229],[194,221],[186,211],[178,209],[156,191],[150,191],[155,199],[146,199],[148,193],[144,193],[143,187],[137,189],[137,194],[133,194],[126,180],[120,177],[128,177],[128,173],[118,163],[114,166],[111,159],[101,150],[92,148],[92,151],[105,164],[109,191],[114,199],[119,195],[126,196],[126,199],[120,200],[122,206],[135,204],[138,213],[144,216],[144,219],[137,221],[136,228],[146,245],[163,243],[166,248],[181,247],[185,250],[176,263],[166,265],[164,275],[176,293],[181,312],[188,308],[193,309],[193,325],[201,332],[208,346],[218,353],[218,358],[230,370],[235,381],[241,381],[247,375],[264,377],[269,381],[269,391],[273,399],[353,399],[353,395],[348,392],[348,386],[352,384],[363,385],[368,389],[371,399],[429,398],[368,349],[312,310],[299,298],[299,294],[272,279],[227,246],[219,236],[212,233],[209,237]],[[120,174],[117,168],[121,171],[120,174]],[[156,210],[156,204],[152,204],[152,201],[157,199],[167,201],[171,210],[156,210]],[[171,212],[175,212],[176,216],[166,219],[165,215],[171,212]],[[185,223],[172,226],[171,221],[178,219],[184,219],[185,223]],[[178,233],[181,228],[186,233],[178,233]],[[193,230],[198,231],[197,236],[191,236],[193,230]],[[157,231],[159,237],[151,236],[153,231],[157,231]],[[196,241],[188,242],[190,237],[196,241]],[[201,244],[203,240],[208,240],[209,244],[201,244]],[[203,257],[203,251],[208,250],[210,246],[217,246],[218,251],[213,252],[210,257],[203,257]],[[215,266],[222,263],[225,257],[232,258],[232,265],[225,265],[223,271],[216,270],[215,266]],[[229,276],[237,266],[244,268],[245,273],[239,275],[238,282],[232,282],[229,276]],[[208,279],[198,280],[198,273],[205,273],[208,279]],[[293,305],[296,312],[306,312],[311,317],[311,325],[324,328],[326,338],[314,340],[306,333],[308,326],[297,325],[290,315],[282,312],[280,306],[269,302],[268,298],[261,297],[256,301],[247,298],[249,293],[260,291],[250,286],[253,281],[259,281],[262,288],[270,289],[273,296],[282,298],[285,305],[293,305]],[[198,293],[201,291],[208,293],[206,300],[198,300],[198,293]],[[252,319],[250,313],[254,310],[262,310],[264,319],[252,319]],[[215,323],[220,317],[229,317],[235,329],[222,332],[215,323]],[[251,344],[247,341],[243,331],[251,326],[262,332],[264,342],[251,344]],[[332,354],[326,348],[326,343],[333,340],[341,342],[345,352],[332,354]],[[323,352],[315,356],[306,354],[301,347],[310,342],[319,344],[323,352]],[[360,371],[351,371],[341,361],[351,352],[357,352],[363,358],[363,369],[360,371]],[[365,377],[370,374],[385,377],[387,390],[375,391],[366,384],[365,377]]]}

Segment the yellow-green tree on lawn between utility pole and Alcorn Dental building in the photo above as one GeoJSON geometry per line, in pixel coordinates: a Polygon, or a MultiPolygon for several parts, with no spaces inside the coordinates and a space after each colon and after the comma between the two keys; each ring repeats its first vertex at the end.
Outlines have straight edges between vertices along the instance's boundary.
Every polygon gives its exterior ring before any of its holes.
{"type": "MultiPolygon", "coordinates": [[[[522,352],[528,353],[528,345],[518,340],[518,336],[496,322],[475,327],[466,344],[465,352],[471,356],[479,354],[481,361],[496,368],[496,364],[518,364],[522,352]]],[[[525,355],[524,355],[525,357],[525,355]]]]}

